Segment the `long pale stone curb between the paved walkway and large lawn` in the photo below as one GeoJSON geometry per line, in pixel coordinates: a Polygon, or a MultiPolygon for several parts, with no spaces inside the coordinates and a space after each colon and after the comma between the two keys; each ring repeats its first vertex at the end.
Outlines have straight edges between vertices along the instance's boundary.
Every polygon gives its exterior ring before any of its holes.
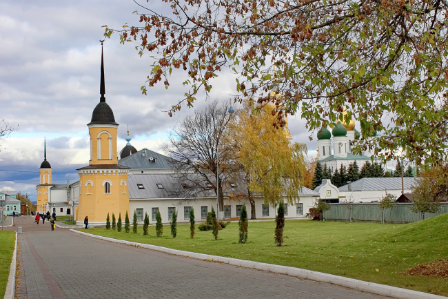
{"type": "Polygon", "coordinates": [[[333,274],[322,273],[318,271],[311,271],[307,269],[281,266],[278,264],[266,264],[263,262],[253,262],[251,260],[238,260],[236,258],[225,258],[222,256],[208,255],[204,253],[194,253],[190,251],[181,251],[177,249],[170,249],[166,247],[155,246],[151,244],[143,244],[130,242],[125,240],[118,240],[114,238],[107,238],[101,235],[92,235],[90,233],[85,233],[83,231],[77,231],[70,229],[74,233],[79,233],[81,235],[86,235],[88,237],[97,238],[109,242],[115,242],[119,244],[127,244],[131,246],[152,249],[156,251],[161,251],[165,253],[170,253],[174,255],[181,255],[187,258],[196,258],[198,260],[207,260],[210,262],[223,262],[226,264],[232,264],[238,267],[245,267],[250,269],[258,269],[261,271],[269,271],[273,273],[286,274],[289,276],[294,276],[303,279],[314,280],[318,282],[327,282],[331,284],[338,284],[343,287],[348,287],[350,289],[357,289],[358,291],[365,291],[368,293],[374,293],[381,296],[390,296],[400,299],[446,299],[445,296],[438,296],[431,293],[424,293],[421,291],[413,291],[410,289],[403,289],[399,287],[391,287],[385,284],[378,284],[374,282],[366,282],[363,280],[356,280],[353,278],[345,278],[343,276],[336,276],[333,274]]]}

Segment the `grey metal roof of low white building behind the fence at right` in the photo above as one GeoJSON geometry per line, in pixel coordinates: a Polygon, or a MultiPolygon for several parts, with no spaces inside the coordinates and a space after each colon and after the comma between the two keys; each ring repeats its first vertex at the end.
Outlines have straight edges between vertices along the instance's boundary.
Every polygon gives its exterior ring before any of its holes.
{"type": "MultiPolygon", "coordinates": [[[[416,177],[403,177],[403,189],[411,189],[414,182],[416,177]]],[[[363,177],[351,184],[352,191],[401,190],[401,177],[363,177]]],[[[348,185],[339,187],[339,191],[348,190],[348,185]]]]}

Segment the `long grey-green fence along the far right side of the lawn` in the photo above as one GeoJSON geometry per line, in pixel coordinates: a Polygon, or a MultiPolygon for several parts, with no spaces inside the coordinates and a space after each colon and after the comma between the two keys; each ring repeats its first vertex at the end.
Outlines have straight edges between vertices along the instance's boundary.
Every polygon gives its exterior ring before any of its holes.
{"type": "MultiPolygon", "coordinates": [[[[381,222],[381,211],[378,203],[328,204],[330,209],[323,213],[325,220],[349,222],[381,222]]],[[[423,219],[421,213],[411,211],[411,203],[394,204],[391,209],[384,210],[385,222],[407,223],[423,219]]],[[[425,219],[448,213],[448,203],[442,203],[437,213],[425,213],[425,219]]]]}

